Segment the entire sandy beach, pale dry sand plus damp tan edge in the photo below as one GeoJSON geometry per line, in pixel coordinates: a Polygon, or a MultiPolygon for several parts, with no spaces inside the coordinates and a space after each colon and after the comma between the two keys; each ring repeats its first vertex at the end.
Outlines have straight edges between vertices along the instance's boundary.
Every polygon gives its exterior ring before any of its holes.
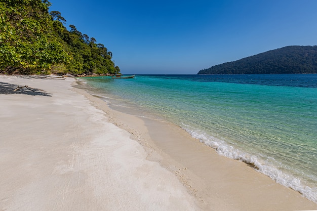
{"type": "Polygon", "coordinates": [[[317,209],[177,126],[111,110],[74,83],[0,76],[0,210],[317,209]],[[25,85],[38,90],[13,92],[25,85]]]}

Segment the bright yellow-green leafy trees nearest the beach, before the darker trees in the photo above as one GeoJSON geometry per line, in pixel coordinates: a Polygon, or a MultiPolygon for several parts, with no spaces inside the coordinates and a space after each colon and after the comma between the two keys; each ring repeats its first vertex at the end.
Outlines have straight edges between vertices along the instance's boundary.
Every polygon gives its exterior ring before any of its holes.
{"type": "Polygon", "coordinates": [[[0,2],[0,68],[14,73],[49,73],[69,59],[50,31],[50,3],[41,0],[0,2]]]}

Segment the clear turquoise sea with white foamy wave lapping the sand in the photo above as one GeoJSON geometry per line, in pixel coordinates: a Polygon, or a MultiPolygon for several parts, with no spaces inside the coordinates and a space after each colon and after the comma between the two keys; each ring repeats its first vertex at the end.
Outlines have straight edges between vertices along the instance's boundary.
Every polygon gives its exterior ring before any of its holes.
{"type": "Polygon", "coordinates": [[[173,122],[317,202],[317,74],[82,80],[113,109],[173,122]]]}

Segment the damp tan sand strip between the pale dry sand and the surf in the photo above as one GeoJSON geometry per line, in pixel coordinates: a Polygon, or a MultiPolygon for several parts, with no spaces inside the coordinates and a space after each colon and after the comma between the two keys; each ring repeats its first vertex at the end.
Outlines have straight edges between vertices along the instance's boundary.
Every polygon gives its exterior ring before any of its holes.
{"type": "MultiPolygon", "coordinates": [[[[92,97],[89,98],[91,101],[94,98],[102,101],[102,97],[94,96],[93,93],[88,95],[92,97]]],[[[253,210],[258,209],[256,207],[261,207],[261,210],[274,210],[277,207],[279,210],[317,209],[316,203],[299,192],[276,183],[243,161],[219,155],[215,149],[191,137],[173,123],[133,116],[108,106],[107,109],[107,113],[117,115],[112,122],[130,133],[140,128],[135,128],[133,121],[127,121],[129,116],[143,120],[148,133],[139,133],[146,138],[137,138],[137,141],[150,154],[147,159],[159,162],[177,176],[204,210],[246,210],[250,207],[253,210]],[[142,143],[144,139],[150,139],[151,144],[142,143]],[[153,150],[156,155],[152,155],[153,150]],[[208,184],[209,181],[213,184],[208,184]],[[216,191],[210,193],[213,190],[216,191]],[[224,208],[224,204],[234,204],[234,207],[224,208]]]]}

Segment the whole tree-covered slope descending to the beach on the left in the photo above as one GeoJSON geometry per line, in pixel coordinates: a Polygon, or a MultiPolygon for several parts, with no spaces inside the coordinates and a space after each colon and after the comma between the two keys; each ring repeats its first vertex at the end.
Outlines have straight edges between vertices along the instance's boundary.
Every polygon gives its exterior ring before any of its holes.
{"type": "Polygon", "coordinates": [[[47,0],[0,1],[0,73],[113,74],[112,53],[94,37],[70,30],[47,0]]]}

